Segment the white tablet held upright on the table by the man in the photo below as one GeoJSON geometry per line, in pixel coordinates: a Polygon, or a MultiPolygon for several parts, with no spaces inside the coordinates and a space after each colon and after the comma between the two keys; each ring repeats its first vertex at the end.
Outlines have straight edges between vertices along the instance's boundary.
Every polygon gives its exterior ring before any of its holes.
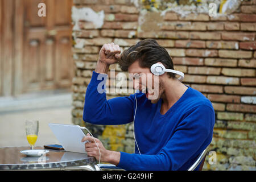
{"type": "Polygon", "coordinates": [[[57,123],[48,123],[48,125],[65,151],[86,154],[85,142],[81,142],[85,134],[80,129],[80,126],[57,123]]]}

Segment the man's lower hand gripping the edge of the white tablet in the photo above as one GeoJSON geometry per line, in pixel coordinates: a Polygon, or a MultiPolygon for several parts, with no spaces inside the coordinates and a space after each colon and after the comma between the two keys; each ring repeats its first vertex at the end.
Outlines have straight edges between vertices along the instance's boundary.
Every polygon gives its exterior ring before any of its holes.
{"type": "Polygon", "coordinates": [[[86,134],[86,137],[82,138],[81,140],[81,142],[85,142],[86,140],[89,141],[85,143],[85,151],[87,152],[87,155],[93,156],[94,158],[99,160],[100,159],[100,153],[98,151],[98,148],[99,148],[101,152],[101,162],[108,162],[108,163],[118,165],[120,161],[120,155],[121,155],[120,152],[106,150],[106,148],[103,146],[103,144],[99,139],[97,138],[94,138],[94,139],[92,136],[90,136],[90,134],[86,134]],[[98,147],[94,142],[94,139],[95,139],[95,142],[97,142],[98,147]]]}

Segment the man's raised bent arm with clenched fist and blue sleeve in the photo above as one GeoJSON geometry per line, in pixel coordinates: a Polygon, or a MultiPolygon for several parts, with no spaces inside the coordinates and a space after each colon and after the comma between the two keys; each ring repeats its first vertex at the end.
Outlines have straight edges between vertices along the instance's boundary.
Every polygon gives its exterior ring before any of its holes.
{"type": "Polygon", "coordinates": [[[98,86],[106,83],[109,65],[117,63],[121,49],[114,43],[104,44],[92,80],[85,94],[83,119],[96,125],[121,125],[133,121],[134,96],[106,100],[98,86]]]}

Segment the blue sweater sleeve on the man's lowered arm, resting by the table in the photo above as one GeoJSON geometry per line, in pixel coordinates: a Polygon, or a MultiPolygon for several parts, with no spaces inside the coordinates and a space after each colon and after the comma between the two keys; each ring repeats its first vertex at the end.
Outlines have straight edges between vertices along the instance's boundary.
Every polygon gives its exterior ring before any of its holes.
{"type": "Polygon", "coordinates": [[[121,152],[118,167],[126,170],[178,170],[184,164],[191,163],[209,145],[214,121],[214,110],[211,107],[196,107],[179,123],[174,135],[158,154],[121,152]]]}

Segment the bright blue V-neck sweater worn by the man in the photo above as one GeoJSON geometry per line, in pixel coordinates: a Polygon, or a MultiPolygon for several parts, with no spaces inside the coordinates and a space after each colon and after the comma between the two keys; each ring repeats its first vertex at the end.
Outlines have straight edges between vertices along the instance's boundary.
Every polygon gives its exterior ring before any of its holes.
{"type": "MultiPolygon", "coordinates": [[[[85,95],[85,122],[95,125],[122,125],[133,122],[135,94],[106,100],[98,93],[102,80],[93,72],[85,95]]],[[[210,144],[215,114],[211,102],[199,91],[187,86],[183,96],[164,114],[162,99],[151,104],[145,94],[137,93],[137,113],[134,122],[135,153],[121,152],[118,167],[126,170],[187,170],[197,156],[210,144]]],[[[197,167],[199,169],[199,167],[197,167]]]]}

